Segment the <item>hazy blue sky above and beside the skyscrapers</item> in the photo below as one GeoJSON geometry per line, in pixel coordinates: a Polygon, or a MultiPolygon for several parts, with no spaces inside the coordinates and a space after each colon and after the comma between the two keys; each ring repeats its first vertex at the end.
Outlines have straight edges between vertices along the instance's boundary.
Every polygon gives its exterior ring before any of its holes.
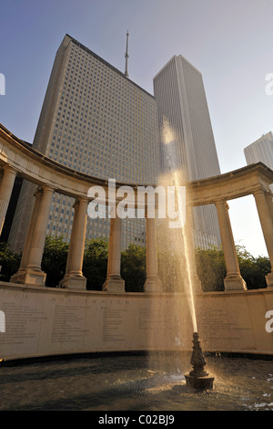
{"type": "MultiPolygon", "coordinates": [[[[69,34],[153,93],[173,55],[203,75],[222,173],[246,165],[243,149],[273,130],[273,0],[2,0],[5,96],[0,122],[33,141],[56,49],[69,34]]],[[[238,244],[267,255],[252,196],[231,202],[238,244]]]]}

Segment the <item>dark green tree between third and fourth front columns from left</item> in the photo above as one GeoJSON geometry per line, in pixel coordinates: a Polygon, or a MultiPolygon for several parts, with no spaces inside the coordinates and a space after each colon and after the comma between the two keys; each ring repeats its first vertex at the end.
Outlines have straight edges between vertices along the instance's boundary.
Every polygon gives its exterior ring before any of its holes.
{"type": "Polygon", "coordinates": [[[108,242],[105,238],[94,238],[86,242],[83,274],[88,290],[102,290],[106,281],[108,242]]]}

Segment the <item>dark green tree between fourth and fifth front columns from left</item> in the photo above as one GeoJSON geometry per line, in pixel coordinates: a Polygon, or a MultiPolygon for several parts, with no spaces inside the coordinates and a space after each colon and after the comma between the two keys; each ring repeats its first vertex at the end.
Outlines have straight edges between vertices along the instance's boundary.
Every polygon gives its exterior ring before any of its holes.
{"type": "Polygon", "coordinates": [[[121,277],[126,292],[144,292],[146,281],[146,247],[130,244],[121,253],[121,277]]]}

